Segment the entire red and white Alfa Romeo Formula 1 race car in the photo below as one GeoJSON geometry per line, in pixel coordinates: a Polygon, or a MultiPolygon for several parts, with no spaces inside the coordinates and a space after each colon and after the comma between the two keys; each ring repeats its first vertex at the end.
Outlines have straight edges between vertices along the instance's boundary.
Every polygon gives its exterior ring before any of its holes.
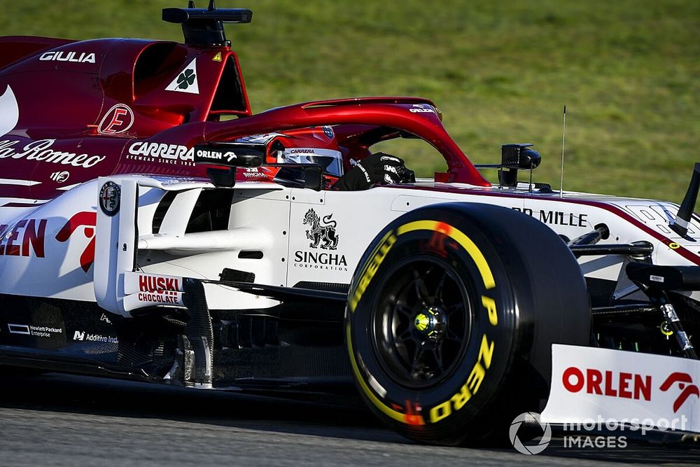
{"type": "Polygon", "coordinates": [[[445,445],[545,406],[700,433],[700,164],[679,207],[532,183],[529,144],[476,167],[428,99],[253,114],[223,29],[251,18],[190,2],[163,11],[184,44],[0,38],[0,372],[356,388],[445,445]],[[401,141],[444,172],[374,183],[401,141]]]}

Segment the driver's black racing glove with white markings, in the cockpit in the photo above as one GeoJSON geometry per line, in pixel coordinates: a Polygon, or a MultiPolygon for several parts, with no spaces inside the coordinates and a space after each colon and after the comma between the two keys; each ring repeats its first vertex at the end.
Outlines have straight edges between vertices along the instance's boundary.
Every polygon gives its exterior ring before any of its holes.
{"type": "Polygon", "coordinates": [[[338,190],[367,190],[380,183],[405,183],[416,181],[412,170],[406,168],[402,159],[395,155],[376,153],[367,156],[340,177],[333,188],[338,190]]]}

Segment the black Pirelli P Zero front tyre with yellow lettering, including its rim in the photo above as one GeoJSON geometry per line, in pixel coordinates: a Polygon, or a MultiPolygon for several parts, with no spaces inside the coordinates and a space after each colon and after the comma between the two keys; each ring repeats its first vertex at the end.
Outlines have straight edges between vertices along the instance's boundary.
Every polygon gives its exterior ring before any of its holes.
{"type": "Polygon", "coordinates": [[[587,344],[580,267],[546,225],[511,209],[450,203],[388,225],[358,265],[346,308],[353,377],[408,438],[507,440],[549,391],[551,344],[587,344]]]}

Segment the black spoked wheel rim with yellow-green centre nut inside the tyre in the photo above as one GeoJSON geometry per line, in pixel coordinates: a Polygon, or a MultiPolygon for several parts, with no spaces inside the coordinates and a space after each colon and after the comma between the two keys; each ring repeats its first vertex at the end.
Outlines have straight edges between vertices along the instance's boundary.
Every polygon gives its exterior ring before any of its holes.
{"type": "Polygon", "coordinates": [[[379,290],[370,334],[384,372],[407,389],[440,384],[468,345],[472,308],[463,281],[425,256],[394,265],[379,290]]]}

